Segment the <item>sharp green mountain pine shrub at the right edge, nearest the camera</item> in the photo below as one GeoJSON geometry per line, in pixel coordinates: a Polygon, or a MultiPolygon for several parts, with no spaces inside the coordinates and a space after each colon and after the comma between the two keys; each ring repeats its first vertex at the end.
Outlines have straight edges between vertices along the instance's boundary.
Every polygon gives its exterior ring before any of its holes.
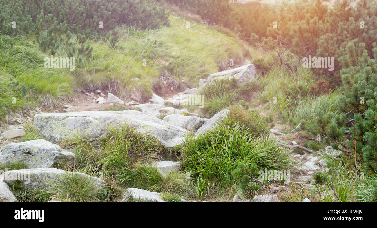
{"type": "MultiPolygon", "coordinates": [[[[377,44],[372,44],[374,58],[377,44]]],[[[339,97],[339,112],[319,110],[308,125],[309,132],[321,141],[363,164],[363,170],[377,173],[377,63],[370,58],[364,43],[358,49],[352,42],[347,55],[340,58],[343,86],[339,97]]],[[[310,142],[319,148],[318,142],[310,142]]]]}

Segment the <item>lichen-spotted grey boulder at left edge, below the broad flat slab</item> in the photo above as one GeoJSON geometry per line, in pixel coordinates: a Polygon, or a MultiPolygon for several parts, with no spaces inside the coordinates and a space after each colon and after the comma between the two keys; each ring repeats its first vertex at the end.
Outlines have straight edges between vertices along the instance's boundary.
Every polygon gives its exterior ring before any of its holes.
{"type": "Polygon", "coordinates": [[[0,155],[0,164],[20,161],[27,168],[50,168],[59,160],[75,164],[76,155],[44,139],[8,144],[0,155]]]}

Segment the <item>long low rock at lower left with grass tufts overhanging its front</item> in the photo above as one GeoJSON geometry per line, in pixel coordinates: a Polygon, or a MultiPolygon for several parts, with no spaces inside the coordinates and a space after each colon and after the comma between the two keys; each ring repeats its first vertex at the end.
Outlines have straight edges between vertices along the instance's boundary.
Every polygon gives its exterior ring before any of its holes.
{"type": "Polygon", "coordinates": [[[10,185],[16,180],[22,181],[22,185],[26,190],[36,190],[46,188],[46,183],[51,180],[64,182],[64,176],[66,175],[80,175],[89,178],[98,188],[106,184],[106,182],[100,178],[89,176],[85,173],[67,172],[57,168],[31,168],[6,171],[4,173],[4,181],[10,185]]]}

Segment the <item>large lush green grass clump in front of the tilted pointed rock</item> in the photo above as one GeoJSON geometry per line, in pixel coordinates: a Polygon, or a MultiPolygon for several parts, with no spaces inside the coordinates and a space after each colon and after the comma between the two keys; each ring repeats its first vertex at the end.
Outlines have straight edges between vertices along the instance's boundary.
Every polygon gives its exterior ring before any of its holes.
{"type": "Polygon", "coordinates": [[[288,170],[288,150],[274,138],[266,138],[269,129],[264,118],[241,108],[230,111],[215,129],[182,145],[182,166],[192,174],[199,197],[230,195],[236,190],[231,172],[239,163],[262,168],[288,170]]]}

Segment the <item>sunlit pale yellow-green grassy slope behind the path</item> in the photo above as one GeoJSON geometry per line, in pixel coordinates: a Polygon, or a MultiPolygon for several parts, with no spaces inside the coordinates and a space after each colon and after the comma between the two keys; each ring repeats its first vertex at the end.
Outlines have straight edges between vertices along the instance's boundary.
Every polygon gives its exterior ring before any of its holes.
{"type": "Polygon", "coordinates": [[[240,63],[249,55],[247,45],[213,28],[191,21],[187,29],[188,19],[174,15],[169,20],[169,27],[157,30],[116,28],[113,32],[121,34],[116,48],[109,41],[92,40],[92,57],[75,72],[80,87],[106,87],[127,99],[147,100],[152,90],[161,90],[160,75],[170,87],[184,90],[225,69],[230,59],[240,63]]]}

